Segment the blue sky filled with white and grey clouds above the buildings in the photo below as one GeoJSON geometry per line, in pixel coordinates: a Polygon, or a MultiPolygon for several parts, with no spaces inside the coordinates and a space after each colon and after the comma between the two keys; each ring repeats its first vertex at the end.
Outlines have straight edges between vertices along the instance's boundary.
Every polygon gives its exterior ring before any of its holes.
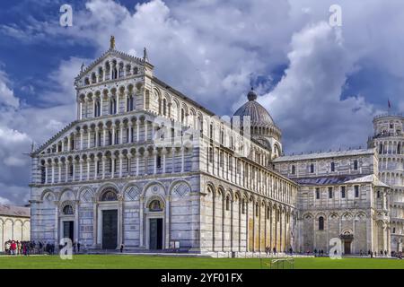
{"type": "Polygon", "coordinates": [[[75,119],[73,79],[109,48],[141,56],[219,115],[253,85],[285,153],[364,147],[374,115],[404,110],[402,0],[2,0],[0,203],[26,204],[31,143],[75,119]],[[73,26],[61,27],[62,4],[73,26]],[[338,4],[342,25],[329,25],[338,4]]]}

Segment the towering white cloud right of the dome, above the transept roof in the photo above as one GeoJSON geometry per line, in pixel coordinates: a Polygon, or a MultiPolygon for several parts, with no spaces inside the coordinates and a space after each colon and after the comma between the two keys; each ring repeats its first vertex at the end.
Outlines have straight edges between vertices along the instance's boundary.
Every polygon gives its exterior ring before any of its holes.
{"type": "Polygon", "coordinates": [[[341,100],[355,65],[338,30],[325,22],[310,25],[294,34],[291,48],[285,76],[259,99],[288,138],[286,150],[364,147],[374,110],[363,97],[341,100]]]}

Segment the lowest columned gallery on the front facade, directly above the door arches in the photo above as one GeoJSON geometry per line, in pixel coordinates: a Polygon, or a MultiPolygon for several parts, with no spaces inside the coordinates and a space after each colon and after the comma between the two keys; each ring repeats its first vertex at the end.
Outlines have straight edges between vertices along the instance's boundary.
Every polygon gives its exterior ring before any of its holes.
{"type": "Polygon", "coordinates": [[[142,146],[130,150],[47,158],[40,162],[41,183],[56,184],[189,171],[185,161],[188,152],[185,147],[142,146]],[[180,161],[176,162],[178,158],[180,161]]]}

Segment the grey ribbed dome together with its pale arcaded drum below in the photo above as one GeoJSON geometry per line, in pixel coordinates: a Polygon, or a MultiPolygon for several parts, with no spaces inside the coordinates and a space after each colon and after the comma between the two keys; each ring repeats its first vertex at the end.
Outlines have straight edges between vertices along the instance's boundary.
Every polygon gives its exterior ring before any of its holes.
{"type": "MultiPolygon", "coordinates": [[[[241,129],[245,117],[250,117],[250,135],[255,141],[261,143],[272,153],[272,158],[276,158],[282,153],[281,131],[275,125],[274,119],[269,115],[268,110],[262,107],[257,101],[257,94],[251,88],[251,91],[247,94],[247,101],[242,105],[240,109],[237,109],[233,115],[240,118],[241,129]]],[[[232,120],[232,121],[233,121],[232,120]]]]}

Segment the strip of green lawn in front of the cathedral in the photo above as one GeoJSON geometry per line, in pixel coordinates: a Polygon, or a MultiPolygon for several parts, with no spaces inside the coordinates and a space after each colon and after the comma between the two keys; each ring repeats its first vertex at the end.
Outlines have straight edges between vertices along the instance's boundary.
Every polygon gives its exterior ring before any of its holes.
{"type": "MultiPolygon", "coordinates": [[[[268,262],[263,259],[262,263],[268,262]]],[[[0,269],[259,269],[258,258],[139,257],[130,255],[78,255],[0,257],[0,269]]],[[[268,268],[263,264],[263,268],[268,268]]],[[[370,258],[295,258],[295,269],[404,269],[404,260],[370,258]]]]}

